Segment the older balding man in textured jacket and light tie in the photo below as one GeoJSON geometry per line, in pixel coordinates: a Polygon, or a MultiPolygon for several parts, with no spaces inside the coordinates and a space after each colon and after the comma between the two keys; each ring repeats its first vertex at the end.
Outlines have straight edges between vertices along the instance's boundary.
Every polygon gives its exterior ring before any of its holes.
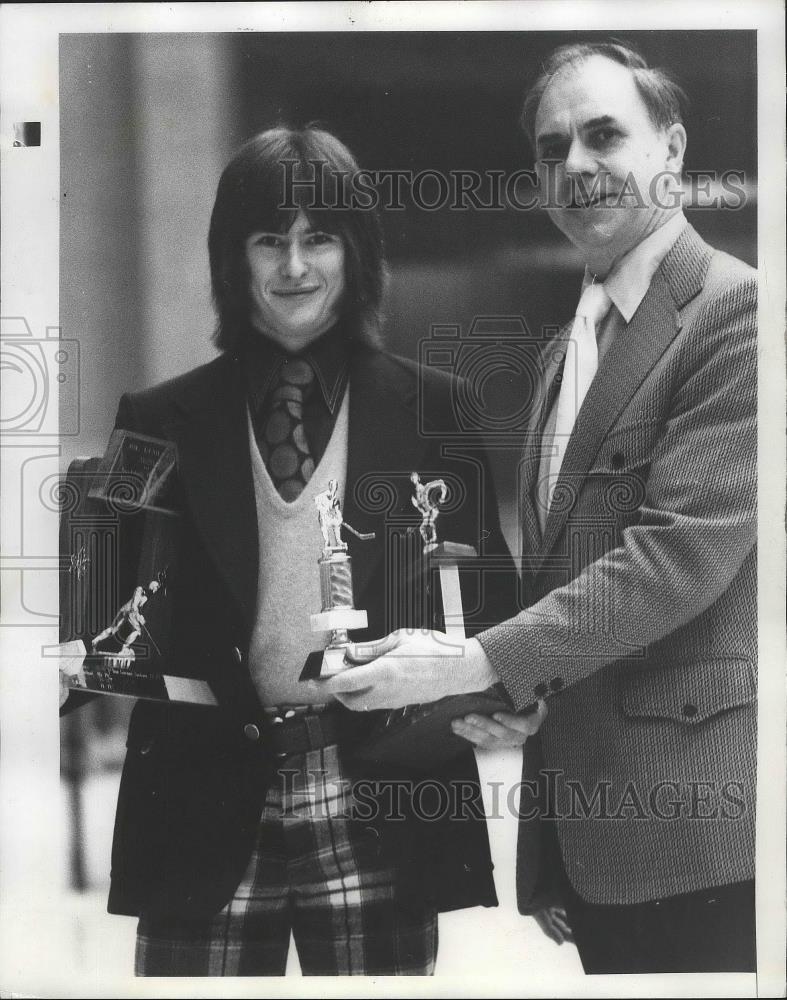
{"type": "Polygon", "coordinates": [[[462,657],[396,637],[328,682],[350,707],[547,699],[520,907],[558,891],[589,973],[755,967],[757,285],[680,209],[680,104],[622,45],[546,60],[523,122],[586,267],[522,458],[528,607],[462,657]]]}

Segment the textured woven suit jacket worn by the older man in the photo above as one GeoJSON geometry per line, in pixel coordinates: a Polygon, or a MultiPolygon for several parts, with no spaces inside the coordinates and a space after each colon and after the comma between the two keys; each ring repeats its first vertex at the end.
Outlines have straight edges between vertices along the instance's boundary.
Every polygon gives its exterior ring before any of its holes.
{"type": "Polygon", "coordinates": [[[541,830],[593,903],[754,875],[756,305],[688,226],[590,387],[543,539],[525,497],[530,607],[480,637],[517,706],[549,697],[541,830]]]}

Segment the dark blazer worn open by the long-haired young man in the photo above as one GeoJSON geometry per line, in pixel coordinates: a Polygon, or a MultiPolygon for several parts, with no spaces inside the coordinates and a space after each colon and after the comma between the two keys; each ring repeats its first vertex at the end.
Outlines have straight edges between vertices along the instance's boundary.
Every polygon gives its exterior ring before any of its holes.
{"type": "MultiPolygon", "coordinates": [[[[378,637],[404,624],[397,610],[393,528],[415,527],[409,475],[454,482],[457,502],[440,519],[443,537],[496,554],[506,572],[476,602],[472,628],[498,621],[512,591],[512,565],[498,524],[482,452],[444,448],[453,426],[449,380],[382,353],[358,350],[350,372],[344,516],[373,543],[350,538],[356,607],[378,637]],[[428,406],[421,405],[424,400],[428,406]],[[426,412],[428,411],[428,413],[426,412]],[[505,585],[501,581],[508,580],[505,585]]],[[[173,606],[168,670],[207,679],[220,707],[140,701],[128,736],[112,849],[111,912],[205,916],[231,897],[251,855],[272,753],[246,666],[256,607],[258,541],[240,362],[222,355],[145,392],[124,396],[117,426],[176,443],[182,537],[169,586],[173,606]],[[253,723],[263,738],[250,742],[253,723]]],[[[320,541],[315,516],[315,572],[320,541]]],[[[315,609],[317,610],[317,609],[315,609]]],[[[420,623],[419,623],[420,624],[420,623]]],[[[343,710],[342,711],[346,711],[343,710]]],[[[347,713],[343,752],[358,778],[408,777],[355,761],[353,750],[378,713],[347,713]]],[[[434,776],[434,775],[432,775],[434,776]]],[[[437,775],[473,783],[468,749],[437,775]]],[[[419,775],[423,778],[423,774],[419,775]]],[[[438,908],[496,905],[483,818],[436,823],[377,821],[368,848],[400,871],[405,890],[438,908]]]]}

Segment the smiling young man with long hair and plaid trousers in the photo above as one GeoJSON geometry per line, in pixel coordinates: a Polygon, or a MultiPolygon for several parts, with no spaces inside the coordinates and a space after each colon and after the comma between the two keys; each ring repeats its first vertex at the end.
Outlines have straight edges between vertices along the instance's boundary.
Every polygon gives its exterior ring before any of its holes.
{"type": "MultiPolygon", "coordinates": [[[[357,170],[321,129],[250,139],[210,223],[221,354],[120,402],[118,428],[177,447],[167,668],[218,700],[132,714],[109,909],[140,918],[140,975],[281,975],[291,931],[307,974],[429,974],[437,911],[496,904],[470,748],[418,775],[369,763],[358,751],[380,713],[299,681],[327,641],[310,629],[327,483],[358,533],[377,533],[351,541],[359,638],[428,624],[402,617],[387,561],[385,517],[414,520],[414,469],[464,483],[451,538],[507,555],[485,463],[445,459],[419,434],[419,378],[444,421],[449,380],[379,348],[379,219],[330,207],[357,170]],[[457,789],[458,815],[417,814],[407,789],[424,774],[457,789]]],[[[489,624],[504,612],[487,590],[489,624]]]]}

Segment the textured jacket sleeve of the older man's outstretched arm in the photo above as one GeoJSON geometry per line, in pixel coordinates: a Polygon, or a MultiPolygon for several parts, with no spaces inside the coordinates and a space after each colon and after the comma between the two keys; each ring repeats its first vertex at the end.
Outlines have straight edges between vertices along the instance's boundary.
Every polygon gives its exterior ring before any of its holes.
{"type": "Polygon", "coordinates": [[[752,276],[711,299],[687,330],[639,517],[623,530],[622,544],[478,635],[517,707],[533,701],[558,663],[563,684],[575,683],[692,621],[730,586],[752,550],[756,301],[752,276]],[[611,634],[596,627],[605,618],[611,634]]]}

